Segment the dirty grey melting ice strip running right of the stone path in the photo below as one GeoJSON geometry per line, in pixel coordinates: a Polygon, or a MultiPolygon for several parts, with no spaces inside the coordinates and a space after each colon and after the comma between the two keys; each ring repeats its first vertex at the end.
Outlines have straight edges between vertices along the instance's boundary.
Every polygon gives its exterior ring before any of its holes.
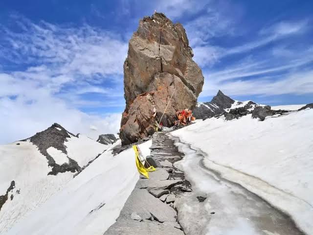
{"type": "Polygon", "coordinates": [[[185,154],[177,166],[193,188],[176,206],[186,235],[302,235],[290,217],[209,169],[200,150],[179,139],[176,145],[185,154]]]}

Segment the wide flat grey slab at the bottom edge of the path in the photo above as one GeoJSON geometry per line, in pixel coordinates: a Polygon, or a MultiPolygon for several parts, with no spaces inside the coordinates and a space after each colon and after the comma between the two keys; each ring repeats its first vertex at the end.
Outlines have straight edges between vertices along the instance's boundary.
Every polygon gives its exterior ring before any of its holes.
{"type": "MultiPolygon", "coordinates": [[[[164,204],[164,203],[162,203],[164,204]]],[[[104,235],[184,235],[178,229],[177,222],[164,222],[158,223],[155,221],[142,221],[135,220],[118,220],[114,223],[104,235]]]]}

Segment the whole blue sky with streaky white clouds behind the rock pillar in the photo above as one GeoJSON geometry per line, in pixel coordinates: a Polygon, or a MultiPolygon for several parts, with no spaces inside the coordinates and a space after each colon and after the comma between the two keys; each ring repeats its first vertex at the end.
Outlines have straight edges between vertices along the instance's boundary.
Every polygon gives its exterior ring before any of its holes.
{"type": "Polygon", "coordinates": [[[128,40],[155,10],[187,31],[205,78],[199,101],[221,89],[269,105],[313,102],[311,0],[4,0],[0,143],[53,122],[116,133],[128,40]]]}

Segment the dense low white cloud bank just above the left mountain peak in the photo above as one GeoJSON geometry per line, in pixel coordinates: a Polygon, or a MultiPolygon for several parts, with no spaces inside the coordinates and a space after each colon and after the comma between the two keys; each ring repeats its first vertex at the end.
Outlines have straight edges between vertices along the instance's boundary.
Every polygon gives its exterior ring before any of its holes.
{"type": "Polygon", "coordinates": [[[28,138],[45,130],[52,123],[61,124],[73,134],[86,134],[96,139],[99,134],[117,133],[121,114],[92,116],[72,109],[61,100],[46,95],[32,102],[23,97],[0,98],[0,143],[28,138]],[[94,126],[97,130],[90,129],[94,126]]]}

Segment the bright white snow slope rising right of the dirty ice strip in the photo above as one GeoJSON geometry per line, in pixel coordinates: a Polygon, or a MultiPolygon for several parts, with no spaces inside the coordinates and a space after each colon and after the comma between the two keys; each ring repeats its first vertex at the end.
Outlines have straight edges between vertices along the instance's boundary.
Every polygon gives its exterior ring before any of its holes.
{"type": "MultiPolygon", "coordinates": [[[[284,107],[280,107],[284,108],[284,107]]],[[[210,118],[172,133],[203,163],[289,214],[313,234],[313,109],[265,121],[210,118]]],[[[188,170],[188,164],[185,171],[188,170]]],[[[205,178],[196,181],[203,188],[205,178]]]]}

